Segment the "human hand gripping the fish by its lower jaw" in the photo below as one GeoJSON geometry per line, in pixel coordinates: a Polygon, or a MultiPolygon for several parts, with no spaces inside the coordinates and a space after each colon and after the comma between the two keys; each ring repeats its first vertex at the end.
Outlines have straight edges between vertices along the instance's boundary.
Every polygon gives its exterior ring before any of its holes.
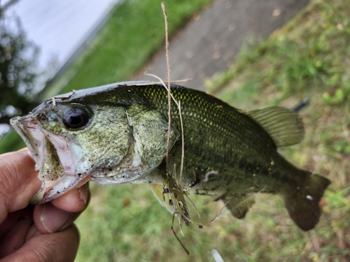
{"type": "Polygon", "coordinates": [[[88,203],[87,184],[50,203],[29,205],[41,187],[28,149],[0,155],[0,261],[73,261],[73,221],[88,203]]]}

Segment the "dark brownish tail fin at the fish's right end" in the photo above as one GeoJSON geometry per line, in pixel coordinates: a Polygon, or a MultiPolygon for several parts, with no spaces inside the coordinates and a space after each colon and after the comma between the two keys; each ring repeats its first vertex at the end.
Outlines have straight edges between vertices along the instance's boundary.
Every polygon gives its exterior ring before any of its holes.
{"type": "Polygon", "coordinates": [[[308,231],[316,226],[321,215],[321,208],[318,202],[323,196],[323,191],[330,180],[321,175],[311,174],[308,171],[302,171],[309,177],[302,188],[289,193],[284,198],[284,205],[288,210],[290,218],[295,224],[308,231]]]}

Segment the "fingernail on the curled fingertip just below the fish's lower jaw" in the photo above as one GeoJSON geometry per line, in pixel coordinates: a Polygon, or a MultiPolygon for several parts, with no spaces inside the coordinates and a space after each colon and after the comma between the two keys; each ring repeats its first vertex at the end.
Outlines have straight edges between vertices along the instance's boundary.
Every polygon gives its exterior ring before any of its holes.
{"type": "Polygon", "coordinates": [[[53,233],[59,231],[71,219],[72,215],[73,213],[60,210],[49,203],[43,207],[40,221],[48,233],[53,233]]]}

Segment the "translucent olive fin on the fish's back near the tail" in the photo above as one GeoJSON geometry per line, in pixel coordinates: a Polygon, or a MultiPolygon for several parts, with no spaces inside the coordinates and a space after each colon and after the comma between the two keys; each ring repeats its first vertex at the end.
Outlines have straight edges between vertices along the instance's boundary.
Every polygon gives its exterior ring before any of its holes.
{"type": "Polygon", "coordinates": [[[302,118],[287,108],[271,106],[261,110],[246,112],[272,137],[276,147],[294,145],[304,138],[302,118]]]}

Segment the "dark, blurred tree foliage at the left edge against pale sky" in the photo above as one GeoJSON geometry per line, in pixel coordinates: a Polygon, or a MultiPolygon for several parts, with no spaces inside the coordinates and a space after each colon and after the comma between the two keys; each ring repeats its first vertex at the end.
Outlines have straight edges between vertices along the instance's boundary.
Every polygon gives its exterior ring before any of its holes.
{"type": "Polygon", "coordinates": [[[0,19],[0,123],[8,123],[34,107],[38,48],[27,40],[19,20],[13,29],[8,17],[0,19]]]}

